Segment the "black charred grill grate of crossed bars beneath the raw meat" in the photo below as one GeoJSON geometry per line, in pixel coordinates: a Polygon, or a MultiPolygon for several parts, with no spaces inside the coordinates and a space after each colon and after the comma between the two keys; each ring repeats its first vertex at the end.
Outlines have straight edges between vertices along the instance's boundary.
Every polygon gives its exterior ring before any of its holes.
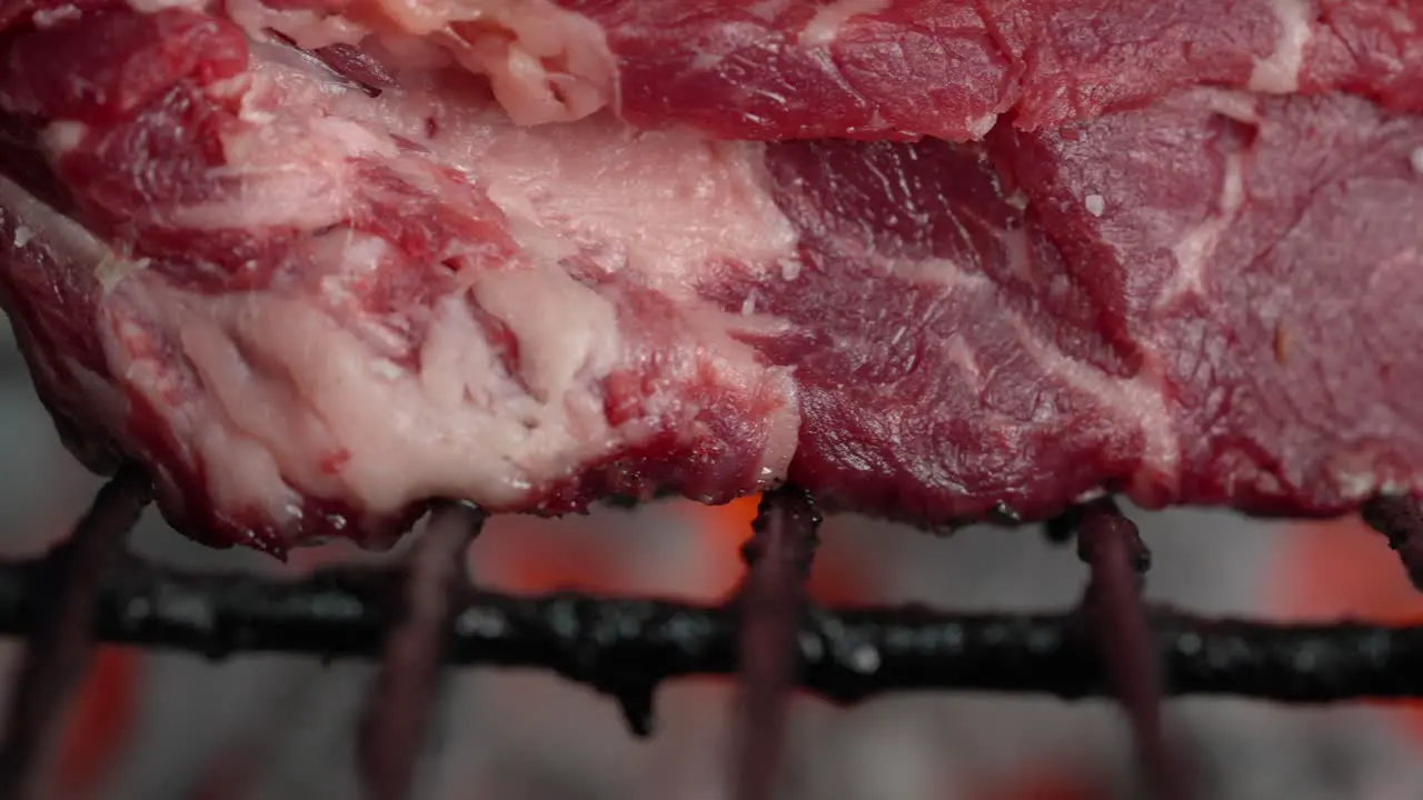
{"type": "MultiPolygon", "coordinates": [[[[1292,703],[1423,698],[1423,626],[1276,625],[1144,606],[1133,572],[1150,554],[1110,500],[1067,521],[1093,579],[1080,609],[1056,615],[817,608],[800,578],[820,520],[794,490],[767,494],[744,554],[747,581],[717,606],[480,591],[460,579],[460,557],[482,515],[458,504],[433,512],[403,567],[329,568],[300,581],[185,572],[124,551],[149,500],[147,478],[125,467],[68,541],[44,558],[0,562],[0,635],[30,642],[0,740],[0,797],[38,796],[57,720],[95,642],[212,659],[380,659],[361,730],[373,800],[407,796],[443,663],[552,670],[613,698],[639,736],[653,730],[662,682],[740,672],[743,799],[768,796],[790,686],[838,703],[905,690],[1117,696],[1144,766],[1173,783],[1164,746],[1154,743],[1163,693],[1292,703]]],[[[1377,501],[1365,518],[1410,574],[1423,575],[1416,504],[1377,501]]],[[[1063,530],[1052,525],[1050,534],[1062,540],[1063,530]]]]}

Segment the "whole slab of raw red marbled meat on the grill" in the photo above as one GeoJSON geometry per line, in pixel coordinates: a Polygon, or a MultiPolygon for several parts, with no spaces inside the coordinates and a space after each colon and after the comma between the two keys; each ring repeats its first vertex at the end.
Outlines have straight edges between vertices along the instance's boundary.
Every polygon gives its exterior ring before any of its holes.
{"type": "Polygon", "coordinates": [[[20,0],[0,302],[213,545],[1423,490],[1423,6],[20,0]]]}

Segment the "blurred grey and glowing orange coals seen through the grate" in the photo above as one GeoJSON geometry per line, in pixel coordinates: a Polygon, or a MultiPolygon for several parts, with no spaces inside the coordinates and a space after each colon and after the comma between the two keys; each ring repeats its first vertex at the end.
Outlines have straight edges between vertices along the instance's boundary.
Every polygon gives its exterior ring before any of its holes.
{"type": "MultiPolygon", "coordinates": [[[[63,535],[97,481],[60,448],[9,339],[0,342],[0,521],[4,555],[63,535]]],[[[719,599],[736,585],[754,501],[636,512],[501,518],[471,551],[488,586],[581,588],[719,599]]],[[[1380,537],[1356,522],[1266,525],[1212,512],[1137,514],[1155,559],[1150,595],[1202,614],[1396,621],[1423,616],[1380,537]]],[[[811,582],[825,602],[921,601],[959,609],[1073,604],[1084,569],[1035,531],[939,540],[832,518],[811,582]]],[[[195,568],[300,572],[351,558],[305,551],[287,567],[208,551],[149,517],[144,555],[195,568]]],[[[0,641],[0,668],[14,663],[0,641]]],[[[292,658],[211,663],[105,649],[63,740],[55,800],[346,800],[360,796],[356,722],[369,665],[292,658]]],[[[428,800],[719,800],[726,797],[730,686],[682,682],[657,696],[659,729],[636,740],[610,700],[556,678],[462,672],[443,689],[421,767],[428,800]]],[[[1201,797],[1416,800],[1423,713],[1409,706],[1289,709],[1174,702],[1173,736],[1201,797]]],[[[1110,703],[905,695],[855,709],[794,703],[787,800],[1107,800],[1130,797],[1131,747],[1110,703]]]]}

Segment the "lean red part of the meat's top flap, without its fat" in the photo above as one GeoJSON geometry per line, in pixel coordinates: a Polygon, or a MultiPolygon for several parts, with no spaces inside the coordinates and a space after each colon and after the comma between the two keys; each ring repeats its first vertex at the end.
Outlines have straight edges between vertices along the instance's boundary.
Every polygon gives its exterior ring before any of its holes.
{"type": "MultiPolygon", "coordinates": [[[[1399,0],[559,0],[599,21],[625,118],[727,138],[970,140],[999,115],[1037,130],[1191,85],[1251,88],[1292,9],[1309,24],[1303,93],[1345,88],[1423,108],[1423,7],[1399,0]]],[[[1269,87],[1265,91],[1291,93],[1269,87]]]]}

